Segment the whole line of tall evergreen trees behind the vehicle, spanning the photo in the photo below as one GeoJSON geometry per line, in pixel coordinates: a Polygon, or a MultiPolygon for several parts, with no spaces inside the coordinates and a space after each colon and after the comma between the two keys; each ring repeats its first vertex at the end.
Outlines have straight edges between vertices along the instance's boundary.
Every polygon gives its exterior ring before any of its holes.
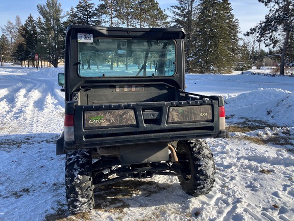
{"type": "Polygon", "coordinates": [[[70,24],[140,28],[175,26],[185,30],[188,73],[247,70],[260,62],[260,58],[273,54],[276,54],[273,58],[281,60],[281,65],[282,61],[288,64],[294,57],[293,50],[289,50],[293,48],[293,3],[290,0],[258,1],[273,8],[265,21],[252,28],[242,40],[239,22],[228,0],[177,0],[176,5],[168,8],[170,16],[155,0],[101,0],[97,5],[92,0],[80,0],[66,13],[58,0],[47,0],[44,5],[37,5],[37,19],[30,14],[23,25],[19,16],[15,24],[8,21],[2,28],[0,53],[6,61],[27,61],[29,65],[34,65],[34,55],[38,54],[40,61],[58,67],[64,58],[65,31],[70,24]],[[272,19],[273,15],[276,19],[272,19]],[[273,47],[272,51],[261,50],[262,41],[265,46],[273,47]]]}

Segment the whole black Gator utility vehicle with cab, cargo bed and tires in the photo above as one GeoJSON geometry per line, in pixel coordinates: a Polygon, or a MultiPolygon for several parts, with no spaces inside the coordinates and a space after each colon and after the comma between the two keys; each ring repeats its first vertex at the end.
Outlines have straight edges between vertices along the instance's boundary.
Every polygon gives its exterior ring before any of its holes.
{"type": "Polygon", "coordinates": [[[178,28],[72,25],[65,41],[64,131],[68,209],[94,207],[93,189],[126,178],[179,177],[185,192],[214,183],[203,138],[225,137],[224,99],[185,92],[178,28]]]}

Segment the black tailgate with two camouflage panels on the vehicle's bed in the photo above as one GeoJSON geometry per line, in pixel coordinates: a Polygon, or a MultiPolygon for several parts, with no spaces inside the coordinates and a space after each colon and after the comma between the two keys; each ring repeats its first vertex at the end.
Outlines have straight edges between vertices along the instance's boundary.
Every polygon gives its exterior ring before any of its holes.
{"type": "Polygon", "coordinates": [[[217,137],[218,100],[75,105],[78,148],[217,137]]]}

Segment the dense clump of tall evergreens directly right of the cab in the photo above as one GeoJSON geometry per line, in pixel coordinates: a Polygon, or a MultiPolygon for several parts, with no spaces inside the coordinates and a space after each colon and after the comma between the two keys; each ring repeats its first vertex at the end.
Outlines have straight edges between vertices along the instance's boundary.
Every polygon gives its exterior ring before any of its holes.
{"type": "Polygon", "coordinates": [[[240,43],[239,23],[228,0],[178,0],[171,6],[176,26],[186,30],[186,71],[230,73],[251,67],[240,43]]]}

